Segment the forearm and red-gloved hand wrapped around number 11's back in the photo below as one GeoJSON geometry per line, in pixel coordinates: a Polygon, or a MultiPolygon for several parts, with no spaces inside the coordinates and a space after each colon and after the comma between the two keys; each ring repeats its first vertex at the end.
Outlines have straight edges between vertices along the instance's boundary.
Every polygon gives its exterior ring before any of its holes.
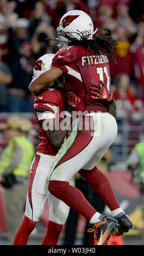
{"type": "Polygon", "coordinates": [[[103,81],[101,82],[101,86],[97,83],[92,83],[90,87],[90,97],[92,99],[99,99],[99,100],[104,100],[107,102],[108,110],[113,117],[116,118],[116,102],[114,98],[112,97],[112,93],[109,92],[107,89],[106,84],[103,81]]]}

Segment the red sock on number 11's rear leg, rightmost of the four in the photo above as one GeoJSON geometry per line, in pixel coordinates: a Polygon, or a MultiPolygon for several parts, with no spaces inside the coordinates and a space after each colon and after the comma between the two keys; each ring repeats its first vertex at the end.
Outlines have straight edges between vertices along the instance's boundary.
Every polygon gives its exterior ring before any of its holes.
{"type": "Polygon", "coordinates": [[[81,169],[79,174],[90,184],[111,211],[120,208],[110,182],[101,170],[97,167],[92,170],[81,169]]]}

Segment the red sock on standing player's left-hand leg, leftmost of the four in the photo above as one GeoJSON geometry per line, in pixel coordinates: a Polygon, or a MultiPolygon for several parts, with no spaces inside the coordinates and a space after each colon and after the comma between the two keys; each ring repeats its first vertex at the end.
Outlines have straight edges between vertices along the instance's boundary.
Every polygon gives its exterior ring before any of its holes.
{"type": "Polygon", "coordinates": [[[27,245],[28,237],[34,230],[36,222],[29,220],[28,217],[24,216],[20,228],[18,228],[14,244],[13,245],[27,245]]]}

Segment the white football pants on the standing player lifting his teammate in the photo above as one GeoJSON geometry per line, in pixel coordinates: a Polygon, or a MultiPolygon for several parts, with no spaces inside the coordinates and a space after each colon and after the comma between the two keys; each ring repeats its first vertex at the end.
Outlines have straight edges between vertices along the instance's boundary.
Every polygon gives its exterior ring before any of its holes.
{"type": "MultiPolygon", "coordinates": [[[[48,173],[53,167],[55,156],[36,153],[29,176],[29,187],[27,193],[26,215],[30,220],[39,221],[43,208],[48,198],[49,216],[48,220],[63,225],[69,213],[69,206],[54,197],[48,191],[48,173]]],[[[71,179],[71,185],[74,186],[74,178],[71,179]]]]}

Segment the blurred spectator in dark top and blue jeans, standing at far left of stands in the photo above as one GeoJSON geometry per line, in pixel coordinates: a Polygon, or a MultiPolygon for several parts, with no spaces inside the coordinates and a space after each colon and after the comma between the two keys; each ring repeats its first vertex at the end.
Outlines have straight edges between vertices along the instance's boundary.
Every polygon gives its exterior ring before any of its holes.
{"type": "Polygon", "coordinates": [[[8,89],[8,112],[31,112],[28,84],[32,80],[33,58],[30,44],[29,20],[20,18],[16,23],[9,23],[7,62],[12,72],[12,83],[8,89]]]}

